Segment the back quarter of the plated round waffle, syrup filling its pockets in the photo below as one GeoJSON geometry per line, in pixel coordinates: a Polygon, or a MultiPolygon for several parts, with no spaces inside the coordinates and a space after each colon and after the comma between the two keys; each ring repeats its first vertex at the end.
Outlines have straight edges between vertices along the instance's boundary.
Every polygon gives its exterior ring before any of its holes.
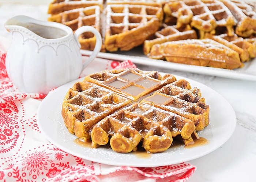
{"type": "Polygon", "coordinates": [[[171,74],[162,76],[156,71],[144,73],[139,69],[121,69],[87,75],[84,80],[137,101],[159,87],[174,82],[176,78],[171,74]]]}

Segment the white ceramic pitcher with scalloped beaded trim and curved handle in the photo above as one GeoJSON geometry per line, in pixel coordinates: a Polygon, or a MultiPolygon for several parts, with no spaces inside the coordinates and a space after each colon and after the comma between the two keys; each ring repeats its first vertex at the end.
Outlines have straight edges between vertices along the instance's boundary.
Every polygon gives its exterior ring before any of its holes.
{"type": "Polygon", "coordinates": [[[91,26],[78,28],[19,15],[4,24],[12,34],[5,60],[8,76],[22,92],[48,94],[50,90],[79,78],[101,50],[100,33],[91,26]],[[82,63],[78,37],[92,32],[97,38],[95,49],[82,63]]]}

